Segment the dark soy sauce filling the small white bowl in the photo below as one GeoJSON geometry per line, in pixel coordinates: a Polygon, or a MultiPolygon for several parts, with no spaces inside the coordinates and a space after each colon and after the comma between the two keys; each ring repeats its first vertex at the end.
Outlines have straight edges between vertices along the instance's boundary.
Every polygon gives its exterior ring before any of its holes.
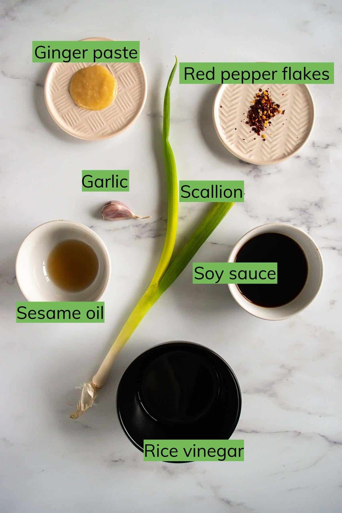
{"type": "Polygon", "coordinates": [[[235,262],[277,262],[276,284],[237,285],[248,301],[267,308],[294,300],[308,277],[308,262],[303,249],[282,233],[255,235],[239,249],[235,262]]]}

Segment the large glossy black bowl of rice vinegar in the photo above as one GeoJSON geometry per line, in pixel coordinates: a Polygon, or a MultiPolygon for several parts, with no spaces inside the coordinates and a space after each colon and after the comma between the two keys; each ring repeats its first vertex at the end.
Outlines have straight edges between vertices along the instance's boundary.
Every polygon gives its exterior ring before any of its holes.
{"type": "Polygon", "coordinates": [[[214,351],[167,342],[140,354],[126,369],[116,411],[140,451],[144,439],[228,439],[240,417],[241,392],[234,372],[214,351]]]}

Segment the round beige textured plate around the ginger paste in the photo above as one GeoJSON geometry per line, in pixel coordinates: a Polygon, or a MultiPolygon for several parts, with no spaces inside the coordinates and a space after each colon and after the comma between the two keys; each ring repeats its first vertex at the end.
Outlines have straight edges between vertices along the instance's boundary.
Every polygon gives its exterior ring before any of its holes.
{"type": "MultiPolygon", "coordinates": [[[[106,37],[89,37],[83,41],[111,41],[106,37]]],[[[105,66],[117,80],[117,95],[104,110],[85,110],[74,104],[69,84],[78,69],[93,63],[54,63],[46,75],[44,94],[46,106],[54,121],[63,130],[95,141],[107,139],[126,130],[143,110],[147,95],[146,75],[140,63],[97,63],[105,66]]]]}

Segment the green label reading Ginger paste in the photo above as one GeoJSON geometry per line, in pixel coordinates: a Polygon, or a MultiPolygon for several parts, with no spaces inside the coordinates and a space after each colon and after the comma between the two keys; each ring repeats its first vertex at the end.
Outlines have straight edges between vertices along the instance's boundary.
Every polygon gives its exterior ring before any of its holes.
{"type": "Polygon", "coordinates": [[[32,41],[33,63],[138,63],[139,41],[32,41]]]}

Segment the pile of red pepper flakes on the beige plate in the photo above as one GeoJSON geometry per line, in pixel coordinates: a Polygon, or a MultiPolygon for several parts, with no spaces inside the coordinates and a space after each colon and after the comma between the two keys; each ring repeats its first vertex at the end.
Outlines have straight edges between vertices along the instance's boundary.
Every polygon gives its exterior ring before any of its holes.
{"type": "MultiPolygon", "coordinates": [[[[265,130],[268,124],[271,125],[270,120],[272,117],[280,113],[284,114],[285,110],[281,112],[280,105],[273,102],[269,90],[267,89],[263,92],[262,89],[259,89],[247,112],[248,121],[246,121],[246,125],[252,127],[252,130],[260,135],[260,132],[265,130]]],[[[262,137],[263,141],[265,141],[266,135],[262,137]]]]}

